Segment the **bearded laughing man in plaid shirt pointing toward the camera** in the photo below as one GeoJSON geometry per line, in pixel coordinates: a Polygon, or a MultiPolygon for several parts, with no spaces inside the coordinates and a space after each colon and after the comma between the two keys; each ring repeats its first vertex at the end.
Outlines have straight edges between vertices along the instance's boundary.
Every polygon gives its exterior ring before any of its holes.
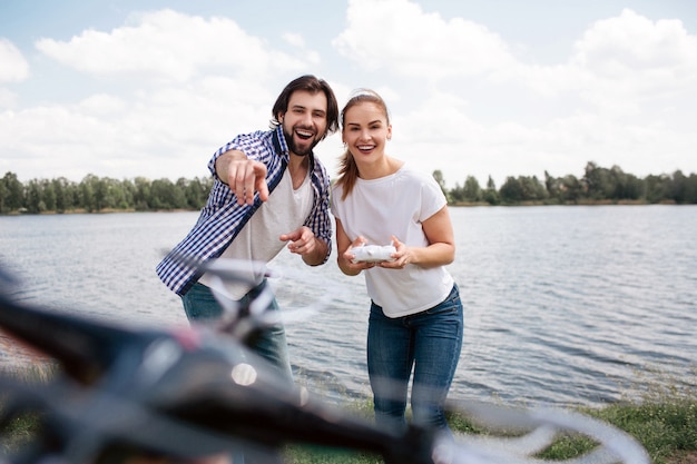
{"type": "MultiPolygon", "coordinates": [[[[271,130],[235,137],[213,156],[214,185],[200,216],[181,243],[157,266],[157,274],[181,296],[189,320],[215,318],[222,307],[213,295],[214,277],[197,263],[224,257],[268,263],[286,246],[310,266],[331,253],[330,178],[313,148],[338,129],[338,105],[331,87],[314,76],[289,82],[272,110],[271,130]]],[[[225,296],[245,303],[249,290],[228,284],[225,296]]],[[[274,300],[269,309],[277,310],[274,300]]],[[[285,330],[265,330],[253,347],[292,379],[285,330]]]]}

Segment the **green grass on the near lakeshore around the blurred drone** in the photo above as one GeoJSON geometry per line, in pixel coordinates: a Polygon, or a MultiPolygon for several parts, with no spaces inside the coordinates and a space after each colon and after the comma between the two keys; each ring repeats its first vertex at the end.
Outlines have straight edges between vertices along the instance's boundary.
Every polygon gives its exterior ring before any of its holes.
{"type": "MultiPolygon", "coordinates": [[[[660,371],[644,371],[621,401],[599,408],[575,409],[627,432],[637,438],[655,464],[697,464],[697,374],[675,378],[660,371]]],[[[346,407],[365,418],[372,415],[370,401],[352,399],[346,407]]],[[[35,433],[36,416],[19,417],[4,424],[0,450],[11,451],[35,433]]],[[[457,434],[489,434],[491,431],[459,413],[449,415],[457,434]]],[[[596,444],[588,437],[561,435],[537,457],[559,461],[581,456],[596,444]]],[[[289,464],[379,464],[379,456],[351,451],[288,446],[289,464]]]]}

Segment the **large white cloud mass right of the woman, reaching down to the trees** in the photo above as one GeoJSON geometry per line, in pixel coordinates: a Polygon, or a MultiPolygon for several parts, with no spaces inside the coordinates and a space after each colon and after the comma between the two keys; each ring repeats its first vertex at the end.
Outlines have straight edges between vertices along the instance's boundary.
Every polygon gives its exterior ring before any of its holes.
{"type": "Polygon", "coordinates": [[[537,63],[495,31],[406,0],[354,0],[347,18],[338,51],[400,82],[394,155],[450,185],[581,175],[589,160],[661,174],[696,146],[683,126],[697,120],[697,45],[678,20],[624,10],[592,23],[567,60],[537,63]],[[412,77],[429,85],[402,86],[412,77]]]}

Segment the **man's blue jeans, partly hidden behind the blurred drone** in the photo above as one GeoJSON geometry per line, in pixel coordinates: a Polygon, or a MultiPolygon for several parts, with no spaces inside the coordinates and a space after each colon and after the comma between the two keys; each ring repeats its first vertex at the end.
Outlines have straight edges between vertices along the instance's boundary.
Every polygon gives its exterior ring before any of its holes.
{"type": "MultiPolygon", "coordinates": [[[[259,284],[259,286],[262,285],[268,284],[264,280],[259,284]]],[[[238,303],[242,305],[248,304],[249,298],[254,298],[254,294],[258,292],[258,288],[259,287],[252,289],[247,295],[242,297],[238,303]]],[[[223,315],[223,308],[216,300],[210,288],[199,283],[194,284],[194,286],[184,294],[181,303],[184,304],[187,318],[192,322],[218,318],[223,315]]],[[[278,310],[276,298],[272,299],[267,310],[278,310]]],[[[293,371],[288,357],[288,344],[286,342],[283,324],[276,324],[263,330],[253,344],[252,349],[276,367],[284,378],[293,382],[293,371]]]]}

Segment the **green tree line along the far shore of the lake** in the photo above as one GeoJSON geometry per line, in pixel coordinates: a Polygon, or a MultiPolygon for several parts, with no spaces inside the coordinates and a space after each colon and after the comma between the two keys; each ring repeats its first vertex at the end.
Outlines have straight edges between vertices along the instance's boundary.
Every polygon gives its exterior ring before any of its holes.
{"type": "MultiPolygon", "coordinates": [[[[508,177],[500,188],[489,177],[481,186],[473,176],[462,185],[446,188],[440,170],[433,171],[451,205],[578,205],[588,203],[697,204],[697,175],[650,175],[638,178],[618,166],[586,165],[581,178],[537,176],[508,177]]],[[[149,180],[143,177],[118,180],[88,175],[79,182],[63,177],[22,182],[13,172],[0,179],[0,214],[99,213],[108,210],[200,209],[213,178],[149,180]]]]}

